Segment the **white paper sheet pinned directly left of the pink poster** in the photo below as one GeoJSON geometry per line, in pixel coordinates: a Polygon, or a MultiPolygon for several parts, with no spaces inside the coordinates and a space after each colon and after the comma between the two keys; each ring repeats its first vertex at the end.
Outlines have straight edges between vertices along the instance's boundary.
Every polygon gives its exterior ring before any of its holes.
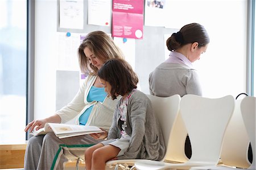
{"type": "Polygon", "coordinates": [[[111,4],[111,0],[89,0],[88,24],[96,26],[110,26],[111,4]]]}

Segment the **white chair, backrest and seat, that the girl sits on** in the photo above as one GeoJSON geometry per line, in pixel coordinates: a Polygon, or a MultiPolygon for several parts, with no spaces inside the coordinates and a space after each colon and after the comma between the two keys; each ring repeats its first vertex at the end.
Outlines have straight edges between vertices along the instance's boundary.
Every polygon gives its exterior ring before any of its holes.
{"type": "MultiPolygon", "coordinates": [[[[166,146],[166,153],[169,150],[170,145],[170,134],[172,131],[172,127],[174,126],[174,122],[177,119],[177,114],[179,113],[180,106],[180,96],[174,95],[171,97],[157,97],[147,95],[152,103],[152,108],[154,109],[154,113],[156,118],[158,118],[159,125],[162,128],[164,144],[166,146]]],[[[166,155],[164,156],[164,159],[166,155]]],[[[163,160],[164,160],[163,159],[163,160]]],[[[129,169],[129,166],[133,166],[136,161],[139,159],[129,159],[129,160],[111,160],[106,163],[107,167],[118,167],[122,169],[129,169]]],[[[133,169],[131,167],[130,169],[133,169]]]]}

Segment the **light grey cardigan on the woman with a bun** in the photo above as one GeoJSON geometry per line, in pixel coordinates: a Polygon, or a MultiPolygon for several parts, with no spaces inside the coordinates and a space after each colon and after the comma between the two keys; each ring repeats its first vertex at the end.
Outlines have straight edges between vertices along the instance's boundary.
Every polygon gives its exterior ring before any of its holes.
{"type": "Polygon", "coordinates": [[[199,76],[185,64],[162,63],[149,76],[150,94],[160,97],[179,94],[202,96],[199,76]]]}

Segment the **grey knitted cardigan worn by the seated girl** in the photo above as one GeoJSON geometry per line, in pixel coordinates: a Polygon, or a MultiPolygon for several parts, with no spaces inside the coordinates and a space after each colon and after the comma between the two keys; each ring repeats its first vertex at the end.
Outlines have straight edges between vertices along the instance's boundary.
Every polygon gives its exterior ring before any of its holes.
{"type": "MultiPolygon", "coordinates": [[[[112,126],[108,139],[121,138],[121,122],[119,121],[118,101],[115,108],[112,126]]],[[[126,133],[131,136],[130,146],[118,159],[150,159],[161,160],[165,153],[162,131],[152,109],[151,101],[146,94],[137,90],[128,101],[126,117],[126,133]]]]}

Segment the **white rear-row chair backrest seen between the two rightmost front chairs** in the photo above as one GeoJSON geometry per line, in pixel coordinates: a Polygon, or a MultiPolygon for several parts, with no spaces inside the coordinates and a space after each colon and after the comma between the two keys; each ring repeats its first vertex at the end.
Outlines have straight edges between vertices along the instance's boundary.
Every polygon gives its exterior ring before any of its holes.
{"type": "Polygon", "coordinates": [[[234,113],[226,128],[221,149],[221,161],[224,165],[249,168],[248,148],[250,144],[241,113],[241,101],[236,100],[234,113]]]}

